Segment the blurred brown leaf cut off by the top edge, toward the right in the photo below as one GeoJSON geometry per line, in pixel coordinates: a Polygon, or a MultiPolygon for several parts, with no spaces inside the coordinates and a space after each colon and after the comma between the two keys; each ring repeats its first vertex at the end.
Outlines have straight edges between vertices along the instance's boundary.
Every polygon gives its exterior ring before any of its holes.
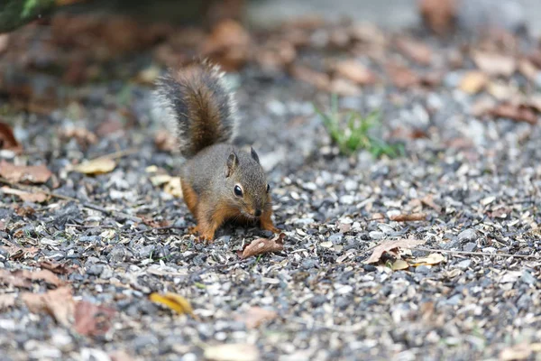
{"type": "Polygon", "coordinates": [[[418,8],[428,28],[438,35],[453,30],[458,14],[457,0],[419,0],[418,8]]]}

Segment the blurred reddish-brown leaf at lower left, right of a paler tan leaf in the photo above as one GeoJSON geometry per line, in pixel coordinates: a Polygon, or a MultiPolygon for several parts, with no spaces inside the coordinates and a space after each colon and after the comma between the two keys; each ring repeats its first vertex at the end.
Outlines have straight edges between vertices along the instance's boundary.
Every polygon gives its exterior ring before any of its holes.
{"type": "Polygon", "coordinates": [[[79,335],[101,336],[111,329],[115,309],[79,301],[75,304],[74,329],[79,335]]]}

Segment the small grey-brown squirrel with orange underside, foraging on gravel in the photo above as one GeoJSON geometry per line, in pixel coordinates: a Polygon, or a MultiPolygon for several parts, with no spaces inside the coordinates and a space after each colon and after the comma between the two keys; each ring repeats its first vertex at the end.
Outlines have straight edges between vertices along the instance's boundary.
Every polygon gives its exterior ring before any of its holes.
{"type": "Polygon", "coordinates": [[[232,144],[238,125],[234,92],[224,72],[207,60],[170,69],[157,80],[165,121],[177,134],[187,162],[180,170],[184,201],[197,219],[191,229],[208,242],[225,221],[274,227],[271,187],[258,154],[232,144]]]}

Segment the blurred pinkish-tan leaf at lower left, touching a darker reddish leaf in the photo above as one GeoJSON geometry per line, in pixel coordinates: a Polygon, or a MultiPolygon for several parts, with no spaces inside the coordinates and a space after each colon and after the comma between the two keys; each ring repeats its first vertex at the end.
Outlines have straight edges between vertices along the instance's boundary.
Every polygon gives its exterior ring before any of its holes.
{"type": "Polygon", "coordinates": [[[64,327],[72,323],[75,302],[69,286],[45,293],[25,292],[21,299],[32,313],[47,312],[64,327]]]}

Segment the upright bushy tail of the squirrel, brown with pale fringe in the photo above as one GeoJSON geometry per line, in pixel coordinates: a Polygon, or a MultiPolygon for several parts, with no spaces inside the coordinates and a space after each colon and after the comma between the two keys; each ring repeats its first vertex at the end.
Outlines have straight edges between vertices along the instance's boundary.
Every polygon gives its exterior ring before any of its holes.
{"type": "Polygon", "coordinates": [[[176,133],[183,156],[190,158],[212,144],[233,140],[237,126],[234,93],[217,65],[203,60],[170,69],[156,86],[157,106],[176,133]]]}

